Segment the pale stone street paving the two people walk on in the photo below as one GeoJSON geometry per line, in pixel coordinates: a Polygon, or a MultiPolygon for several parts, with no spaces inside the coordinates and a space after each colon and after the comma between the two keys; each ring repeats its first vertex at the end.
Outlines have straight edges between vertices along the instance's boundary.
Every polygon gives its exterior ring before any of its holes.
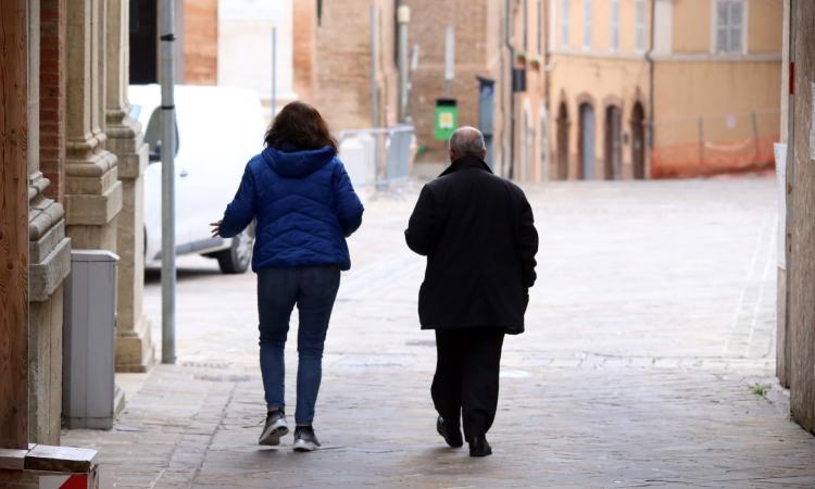
{"type": "MultiPolygon", "coordinates": [[[[128,403],[115,428],[64,431],[63,443],[101,450],[115,487],[815,487],[815,438],[789,421],[773,378],[774,180],[528,186],[539,279],[528,331],[504,343],[482,460],[435,432],[435,343],[416,318],[424,260],[402,238],[417,190],[368,197],[350,241],[322,451],[255,444],[255,279],[201,258],[179,261],[178,364],[117,376],[128,403]]],[[[154,338],[160,298],[148,274],[154,338]]],[[[293,406],[293,342],[287,353],[293,406]]]]}

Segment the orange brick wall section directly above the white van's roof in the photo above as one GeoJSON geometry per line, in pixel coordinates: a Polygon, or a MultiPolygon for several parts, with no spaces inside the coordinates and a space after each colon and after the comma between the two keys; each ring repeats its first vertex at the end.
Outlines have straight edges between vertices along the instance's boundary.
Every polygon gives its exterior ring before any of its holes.
{"type": "Polygon", "coordinates": [[[184,2],[184,83],[216,85],[218,0],[184,2]]]}

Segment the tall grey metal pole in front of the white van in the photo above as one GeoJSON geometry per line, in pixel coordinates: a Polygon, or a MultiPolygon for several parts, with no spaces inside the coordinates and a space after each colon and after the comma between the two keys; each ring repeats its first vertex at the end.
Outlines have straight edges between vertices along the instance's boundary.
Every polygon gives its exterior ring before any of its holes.
{"type": "Polygon", "coordinates": [[[175,0],[160,2],[161,33],[161,362],[175,363],[175,0]]]}

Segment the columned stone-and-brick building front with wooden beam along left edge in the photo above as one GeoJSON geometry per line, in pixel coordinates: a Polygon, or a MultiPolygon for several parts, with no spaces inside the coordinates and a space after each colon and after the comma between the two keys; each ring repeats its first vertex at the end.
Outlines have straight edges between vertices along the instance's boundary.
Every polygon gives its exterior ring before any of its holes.
{"type": "Polygon", "coordinates": [[[12,449],[0,486],[40,487],[42,473],[26,460],[51,450],[40,471],[71,467],[96,487],[95,451],[49,446],[60,443],[72,249],[118,254],[116,366],[143,371],[152,361],[141,311],[147,147],[127,103],[129,2],[0,7],[0,391],[9,394],[0,402],[0,448],[12,449]]]}

